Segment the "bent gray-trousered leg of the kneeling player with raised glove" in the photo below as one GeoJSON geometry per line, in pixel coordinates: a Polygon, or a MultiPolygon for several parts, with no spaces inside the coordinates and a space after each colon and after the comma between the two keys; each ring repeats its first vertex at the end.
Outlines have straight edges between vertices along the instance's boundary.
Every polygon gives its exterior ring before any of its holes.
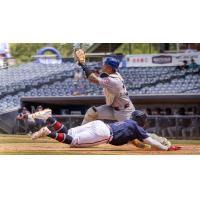
{"type": "Polygon", "coordinates": [[[89,108],[84,116],[82,125],[97,119],[115,120],[113,108],[107,105],[89,108]]]}

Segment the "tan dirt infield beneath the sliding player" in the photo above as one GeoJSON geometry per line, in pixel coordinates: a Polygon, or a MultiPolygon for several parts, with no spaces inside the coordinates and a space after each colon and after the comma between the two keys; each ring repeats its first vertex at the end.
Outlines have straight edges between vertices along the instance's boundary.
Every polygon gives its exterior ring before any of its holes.
{"type": "Polygon", "coordinates": [[[182,146],[180,151],[141,150],[133,145],[112,146],[109,144],[91,148],[69,148],[52,139],[32,141],[29,136],[0,135],[1,155],[200,155],[200,141],[173,141],[182,146]]]}

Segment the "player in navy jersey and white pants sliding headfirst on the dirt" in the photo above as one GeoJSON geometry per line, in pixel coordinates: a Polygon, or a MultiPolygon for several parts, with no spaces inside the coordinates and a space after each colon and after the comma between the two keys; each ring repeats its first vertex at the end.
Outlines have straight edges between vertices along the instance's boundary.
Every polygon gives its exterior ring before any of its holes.
{"type": "Polygon", "coordinates": [[[31,115],[34,119],[42,119],[50,124],[35,132],[32,139],[48,136],[69,144],[70,147],[92,147],[105,143],[120,146],[137,139],[159,150],[178,150],[176,146],[165,146],[152,139],[133,119],[108,124],[95,120],[67,130],[63,124],[52,117],[50,109],[31,115]]]}

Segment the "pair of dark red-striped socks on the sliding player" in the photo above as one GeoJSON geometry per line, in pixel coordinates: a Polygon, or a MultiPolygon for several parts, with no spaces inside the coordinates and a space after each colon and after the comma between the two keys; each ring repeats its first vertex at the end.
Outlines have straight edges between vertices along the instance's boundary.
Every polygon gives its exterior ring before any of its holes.
{"type": "Polygon", "coordinates": [[[73,138],[70,135],[68,135],[67,128],[62,123],[58,122],[52,117],[49,117],[47,119],[47,122],[54,130],[48,135],[48,137],[65,144],[71,144],[73,138]]]}

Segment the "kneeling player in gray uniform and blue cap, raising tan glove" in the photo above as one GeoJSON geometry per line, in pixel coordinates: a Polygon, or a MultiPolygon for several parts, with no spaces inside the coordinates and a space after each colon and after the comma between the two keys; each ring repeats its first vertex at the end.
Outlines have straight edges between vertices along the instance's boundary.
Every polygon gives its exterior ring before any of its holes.
{"type": "Polygon", "coordinates": [[[77,64],[82,67],[87,79],[103,87],[103,93],[106,99],[106,105],[91,107],[87,110],[82,124],[94,121],[96,119],[107,119],[123,121],[130,119],[135,110],[123,82],[123,78],[117,72],[119,61],[108,57],[102,66],[103,73],[97,76],[85,64],[85,53],[82,49],[74,50],[74,57],[77,64]]]}

